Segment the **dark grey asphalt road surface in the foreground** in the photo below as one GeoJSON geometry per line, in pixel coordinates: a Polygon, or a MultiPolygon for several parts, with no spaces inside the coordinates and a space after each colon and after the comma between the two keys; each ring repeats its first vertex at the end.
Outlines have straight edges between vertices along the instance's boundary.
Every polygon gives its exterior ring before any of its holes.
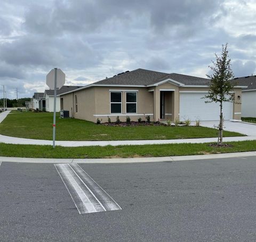
{"type": "Polygon", "coordinates": [[[54,164],[0,166],[0,241],[256,241],[256,157],[80,164],[122,210],[79,214],[54,164]]]}

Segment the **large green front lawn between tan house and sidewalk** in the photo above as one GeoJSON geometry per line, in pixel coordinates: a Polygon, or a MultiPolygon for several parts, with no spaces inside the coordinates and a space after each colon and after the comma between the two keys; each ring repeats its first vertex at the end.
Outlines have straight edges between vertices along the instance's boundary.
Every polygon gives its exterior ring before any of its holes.
{"type": "MultiPolygon", "coordinates": [[[[0,123],[2,135],[52,139],[52,113],[10,113],[0,123]]],[[[60,119],[57,114],[56,140],[142,140],[142,139],[185,139],[217,137],[217,130],[205,127],[136,126],[110,127],[85,120],[60,119]]],[[[223,136],[243,136],[224,131],[223,136]]]]}

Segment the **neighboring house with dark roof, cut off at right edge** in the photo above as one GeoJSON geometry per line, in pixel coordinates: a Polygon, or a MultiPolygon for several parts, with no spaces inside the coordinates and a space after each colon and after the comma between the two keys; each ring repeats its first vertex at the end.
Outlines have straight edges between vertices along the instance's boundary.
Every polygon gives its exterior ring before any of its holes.
{"type": "Polygon", "coordinates": [[[239,77],[234,80],[247,86],[242,89],[242,117],[256,118],[256,76],[239,77]]]}

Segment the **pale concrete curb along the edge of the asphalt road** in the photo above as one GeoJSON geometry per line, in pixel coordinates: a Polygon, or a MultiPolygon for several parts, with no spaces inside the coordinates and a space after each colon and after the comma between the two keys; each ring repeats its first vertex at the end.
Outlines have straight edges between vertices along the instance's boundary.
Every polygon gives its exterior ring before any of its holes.
{"type": "Polygon", "coordinates": [[[256,156],[254,152],[237,152],[211,155],[186,155],[186,156],[166,156],[166,157],[142,157],[142,158],[95,158],[95,159],[60,159],[60,158],[22,158],[0,156],[0,162],[17,163],[82,163],[82,164],[113,164],[113,163],[149,163],[149,162],[172,162],[172,161],[195,161],[212,160],[217,158],[237,158],[256,156]]]}

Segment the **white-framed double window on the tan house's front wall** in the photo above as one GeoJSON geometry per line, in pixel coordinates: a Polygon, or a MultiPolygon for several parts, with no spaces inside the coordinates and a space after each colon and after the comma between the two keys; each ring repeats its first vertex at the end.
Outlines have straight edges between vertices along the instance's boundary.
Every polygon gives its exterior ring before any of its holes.
{"type": "MultiPolygon", "coordinates": [[[[137,113],[137,92],[126,91],[126,113],[137,113]]],[[[122,91],[110,92],[110,113],[122,113],[122,91]]]]}

